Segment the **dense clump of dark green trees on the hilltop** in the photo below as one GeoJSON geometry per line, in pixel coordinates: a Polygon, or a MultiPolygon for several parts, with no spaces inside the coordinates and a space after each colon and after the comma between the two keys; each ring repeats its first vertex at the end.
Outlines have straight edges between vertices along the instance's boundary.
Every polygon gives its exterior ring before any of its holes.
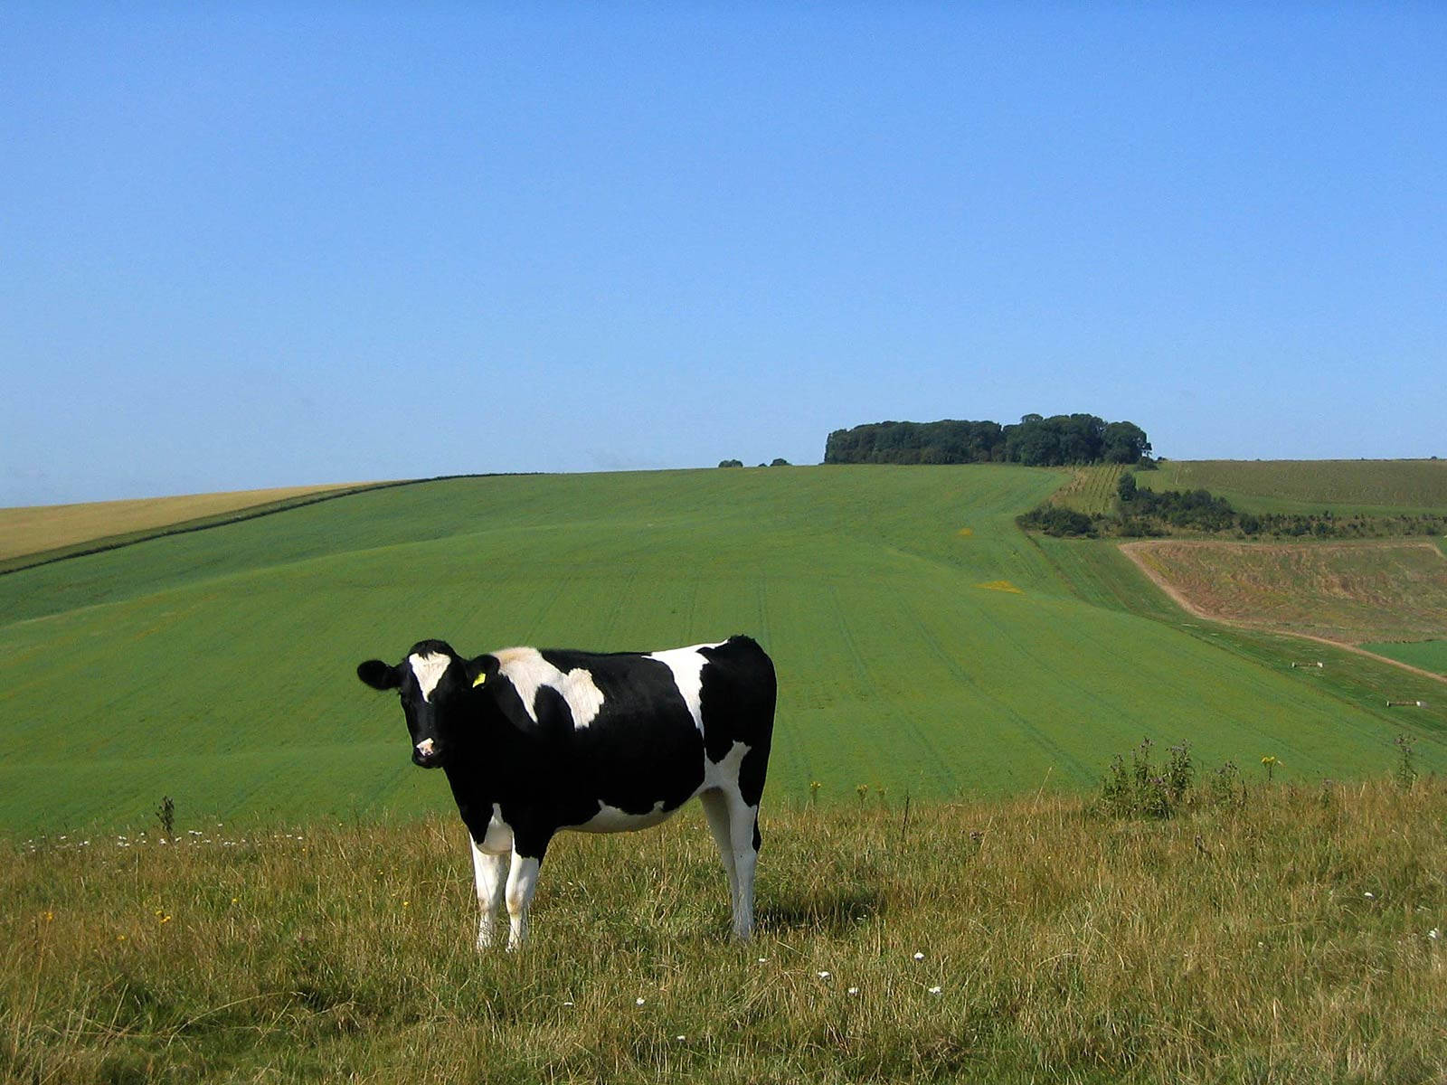
{"type": "Polygon", "coordinates": [[[1085,463],[1140,463],[1150,454],[1146,431],[1134,422],[1107,422],[1092,414],[1027,414],[1017,424],[991,421],[867,422],[835,430],[825,463],[1020,463],[1059,467],[1085,463]]]}

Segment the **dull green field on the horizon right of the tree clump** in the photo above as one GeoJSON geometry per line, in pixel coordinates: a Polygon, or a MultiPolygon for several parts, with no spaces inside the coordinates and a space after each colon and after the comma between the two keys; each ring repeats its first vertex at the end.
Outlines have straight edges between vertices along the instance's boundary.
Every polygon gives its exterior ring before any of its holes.
{"type": "Polygon", "coordinates": [[[1171,460],[1155,490],[1207,489],[1246,512],[1391,515],[1447,508],[1447,460],[1171,460]]]}

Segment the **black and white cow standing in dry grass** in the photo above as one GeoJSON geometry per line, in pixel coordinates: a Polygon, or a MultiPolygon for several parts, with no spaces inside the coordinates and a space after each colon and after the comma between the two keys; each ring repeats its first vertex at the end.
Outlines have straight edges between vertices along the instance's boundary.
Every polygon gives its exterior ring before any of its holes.
{"type": "Polygon", "coordinates": [[[505,648],[472,660],[421,641],[395,667],[368,660],[357,677],[399,692],[412,762],[447,774],[472,836],[479,949],[492,943],[504,900],[508,949],[522,945],[559,829],[645,829],[695,796],[728,872],[734,935],[751,935],[776,683],[748,637],[650,654],[505,648]]]}

